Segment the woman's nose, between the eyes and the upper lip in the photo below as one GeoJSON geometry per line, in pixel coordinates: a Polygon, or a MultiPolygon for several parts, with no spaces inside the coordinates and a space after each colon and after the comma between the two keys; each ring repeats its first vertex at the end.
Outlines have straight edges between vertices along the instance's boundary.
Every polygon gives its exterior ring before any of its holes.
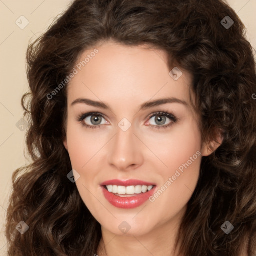
{"type": "Polygon", "coordinates": [[[136,169],[143,164],[143,148],[141,141],[133,133],[133,126],[117,131],[108,148],[108,163],[121,171],[136,169]]]}

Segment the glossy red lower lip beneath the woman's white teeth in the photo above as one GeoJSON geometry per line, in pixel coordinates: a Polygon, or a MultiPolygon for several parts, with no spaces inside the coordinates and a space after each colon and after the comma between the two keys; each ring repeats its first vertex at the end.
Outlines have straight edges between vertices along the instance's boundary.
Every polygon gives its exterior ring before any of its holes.
{"type": "Polygon", "coordinates": [[[102,186],[103,189],[103,194],[105,198],[115,207],[118,208],[124,208],[124,209],[131,209],[131,208],[136,208],[146,202],[148,198],[154,193],[155,186],[150,190],[145,193],[140,193],[135,196],[130,196],[130,197],[120,197],[117,196],[111,192],[108,192],[108,190],[102,186]]]}

